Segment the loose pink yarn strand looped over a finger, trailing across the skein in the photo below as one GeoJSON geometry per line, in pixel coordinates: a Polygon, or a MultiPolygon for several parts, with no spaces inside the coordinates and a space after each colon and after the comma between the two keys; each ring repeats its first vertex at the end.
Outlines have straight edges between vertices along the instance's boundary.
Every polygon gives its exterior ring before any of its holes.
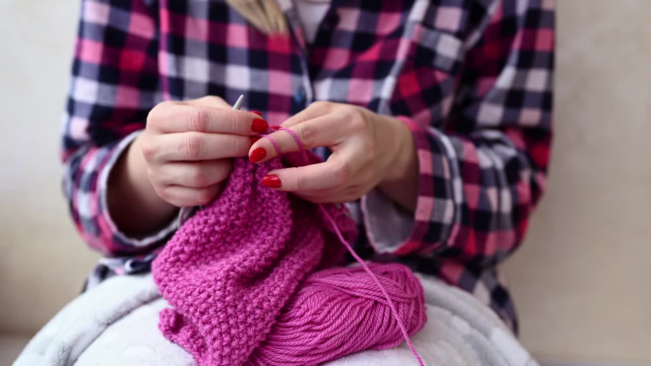
{"type": "MultiPolygon", "coordinates": [[[[294,140],[296,141],[296,143],[298,144],[298,147],[301,149],[301,152],[303,153],[303,158],[305,158],[305,162],[309,162],[309,159],[307,158],[307,153],[305,152],[305,147],[303,145],[303,142],[301,141],[301,139],[299,139],[298,135],[296,135],[296,132],[294,132],[294,131],[290,130],[289,128],[286,128],[286,127],[281,127],[280,130],[288,132],[290,135],[292,135],[292,137],[294,137],[294,140]]],[[[273,144],[273,146],[276,148],[278,154],[281,154],[281,150],[278,148],[275,141],[273,141],[273,139],[271,139],[271,137],[268,137],[267,135],[265,135],[264,137],[269,139],[271,141],[271,143],[273,144]]],[[[389,293],[387,293],[387,290],[385,289],[385,287],[380,283],[380,281],[378,280],[378,277],[370,270],[370,268],[368,268],[368,265],[366,264],[366,262],[363,259],[361,259],[361,257],[359,257],[359,255],[357,255],[357,253],[355,253],[355,251],[353,250],[353,247],[350,246],[348,241],[346,241],[344,236],[341,234],[341,231],[339,230],[339,227],[337,227],[337,223],[335,223],[335,220],[330,216],[330,214],[328,214],[328,212],[324,208],[324,206],[322,204],[318,204],[318,207],[320,208],[321,212],[324,214],[326,219],[329,221],[330,225],[332,225],[332,227],[333,227],[333,229],[335,231],[335,234],[337,234],[337,237],[339,238],[340,242],[342,244],[344,244],[344,247],[346,247],[346,249],[350,252],[350,254],[353,256],[353,258],[355,258],[355,260],[357,260],[357,262],[359,262],[359,264],[361,264],[361,266],[364,268],[364,270],[367,272],[367,274],[370,275],[370,277],[373,279],[373,281],[376,283],[376,285],[378,285],[378,288],[382,292],[382,295],[387,300],[387,303],[389,303],[389,308],[391,309],[391,314],[396,319],[396,322],[398,323],[398,327],[400,327],[400,332],[402,332],[402,337],[404,337],[405,341],[407,341],[407,345],[409,346],[409,350],[411,350],[411,354],[413,354],[413,356],[417,359],[420,366],[424,366],[424,364],[422,363],[421,356],[418,354],[416,348],[414,348],[413,343],[411,343],[411,338],[409,338],[409,334],[407,333],[407,329],[406,329],[404,323],[402,322],[402,319],[398,315],[398,310],[396,310],[396,307],[393,304],[393,301],[391,301],[391,297],[389,296],[389,293]]]]}

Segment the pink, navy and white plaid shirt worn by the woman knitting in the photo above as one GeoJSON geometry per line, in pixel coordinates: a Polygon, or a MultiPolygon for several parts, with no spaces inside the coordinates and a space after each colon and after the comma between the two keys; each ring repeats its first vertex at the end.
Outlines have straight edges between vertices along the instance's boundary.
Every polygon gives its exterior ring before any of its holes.
{"type": "MultiPolygon", "coordinates": [[[[280,124],[331,100],[413,130],[413,230],[383,255],[472,292],[516,328],[495,264],[518,247],[545,187],[553,0],[335,0],[313,44],[292,1],[279,4],[291,31],[266,36],[222,0],[83,0],[62,159],[79,231],[119,257],[99,272],[130,272],[122,265],[152,257],[178,227],[129,238],[106,210],[107,175],[158,102],[244,94],[280,124]]],[[[357,248],[378,257],[372,242],[357,248]]]]}

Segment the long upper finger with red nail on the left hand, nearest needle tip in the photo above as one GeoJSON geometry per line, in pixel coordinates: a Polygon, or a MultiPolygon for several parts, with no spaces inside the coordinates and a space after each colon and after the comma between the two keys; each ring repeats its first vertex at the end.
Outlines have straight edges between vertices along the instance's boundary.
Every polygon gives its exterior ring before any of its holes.
{"type": "Polygon", "coordinates": [[[195,131],[253,135],[269,129],[269,124],[253,112],[178,102],[154,107],[147,117],[147,125],[162,133],[195,131]]]}

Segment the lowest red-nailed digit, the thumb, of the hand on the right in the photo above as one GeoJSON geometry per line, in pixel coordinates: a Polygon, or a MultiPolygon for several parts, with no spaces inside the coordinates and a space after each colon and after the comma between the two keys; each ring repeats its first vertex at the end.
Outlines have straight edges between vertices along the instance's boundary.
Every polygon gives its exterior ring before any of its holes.
{"type": "Polygon", "coordinates": [[[360,169],[351,149],[348,150],[331,155],[324,163],[270,171],[260,183],[281,191],[327,190],[344,186],[360,169]]]}

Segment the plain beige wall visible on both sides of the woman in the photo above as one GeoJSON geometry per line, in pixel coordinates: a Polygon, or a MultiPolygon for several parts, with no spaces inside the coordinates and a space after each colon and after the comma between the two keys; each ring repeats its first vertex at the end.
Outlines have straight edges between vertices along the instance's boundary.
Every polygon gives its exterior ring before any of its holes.
{"type": "MultiPolygon", "coordinates": [[[[59,184],[77,3],[0,1],[0,333],[40,328],[97,258],[59,184]]],[[[651,1],[557,4],[549,190],[506,264],[522,338],[546,359],[648,364],[651,1]]]]}

